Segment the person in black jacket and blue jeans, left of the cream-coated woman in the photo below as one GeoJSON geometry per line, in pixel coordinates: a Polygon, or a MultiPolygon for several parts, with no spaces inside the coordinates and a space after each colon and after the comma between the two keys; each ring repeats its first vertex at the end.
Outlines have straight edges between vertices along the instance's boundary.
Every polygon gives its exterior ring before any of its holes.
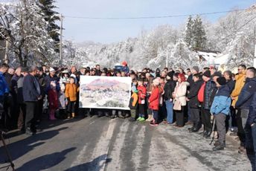
{"type": "Polygon", "coordinates": [[[164,85],[164,100],[167,110],[167,123],[173,123],[173,91],[176,83],[173,81],[173,72],[167,74],[167,83],[164,85]]]}

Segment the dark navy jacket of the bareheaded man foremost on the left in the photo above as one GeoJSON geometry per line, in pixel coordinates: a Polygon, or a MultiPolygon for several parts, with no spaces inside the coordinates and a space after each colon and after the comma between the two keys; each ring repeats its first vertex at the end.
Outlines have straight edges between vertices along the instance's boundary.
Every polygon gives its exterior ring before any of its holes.
{"type": "Polygon", "coordinates": [[[24,77],[22,90],[25,102],[37,101],[40,96],[40,86],[36,77],[31,74],[24,77]]]}

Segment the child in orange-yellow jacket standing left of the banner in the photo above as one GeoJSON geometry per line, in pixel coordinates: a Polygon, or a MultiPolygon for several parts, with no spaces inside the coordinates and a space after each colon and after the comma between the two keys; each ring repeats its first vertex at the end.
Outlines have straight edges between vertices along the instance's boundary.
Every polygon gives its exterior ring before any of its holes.
{"type": "Polygon", "coordinates": [[[68,118],[74,117],[75,104],[77,101],[78,87],[74,82],[75,78],[69,77],[69,83],[65,85],[65,97],[67,97],[68,100],[68,118]]]}

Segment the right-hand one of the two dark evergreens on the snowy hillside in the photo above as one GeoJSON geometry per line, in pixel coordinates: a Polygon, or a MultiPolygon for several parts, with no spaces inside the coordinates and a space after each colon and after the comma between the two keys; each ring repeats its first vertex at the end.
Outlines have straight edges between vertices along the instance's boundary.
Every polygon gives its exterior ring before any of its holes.
{"type": "Polygon", "coordinates": [[[202,50],[206,45],[206,33],[205,28],[202,25],[202,19],[200,16],[196,16],[196,19],[193,20],[193,50],[202,50]]]}

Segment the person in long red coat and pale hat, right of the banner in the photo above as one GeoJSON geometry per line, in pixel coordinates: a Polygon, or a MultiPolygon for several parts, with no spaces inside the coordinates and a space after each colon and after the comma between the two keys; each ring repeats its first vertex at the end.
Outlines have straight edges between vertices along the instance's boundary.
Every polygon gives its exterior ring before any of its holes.
{"type": "Polygon", "coordinates": [[[153,120],[150,122],[151,126],[158,126],[159,125],[159,99],[160,99],[160,87],[159,87],[160,80],[156,78],[153,80],[153,88],[151,91],[150,99],[148,102],[150,103],[149,108],[153,112],[153,120]]]}

